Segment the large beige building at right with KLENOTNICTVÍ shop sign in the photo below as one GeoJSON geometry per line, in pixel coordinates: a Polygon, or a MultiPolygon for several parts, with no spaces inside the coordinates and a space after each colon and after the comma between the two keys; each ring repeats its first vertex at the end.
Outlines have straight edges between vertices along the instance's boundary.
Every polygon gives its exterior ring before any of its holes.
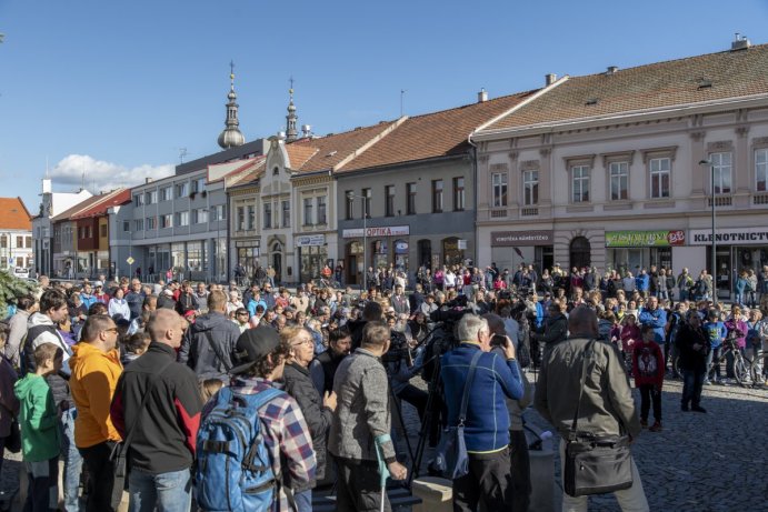
{"type": "Polygon", "coordinates": [[[719,53],[548,76],[537,98],[471,135],[479,263],[698,273],[711,269],[714,195],[726,297],[737,271],[768,264],[767,73],[768,46],[737,40],[719,53]]]}

